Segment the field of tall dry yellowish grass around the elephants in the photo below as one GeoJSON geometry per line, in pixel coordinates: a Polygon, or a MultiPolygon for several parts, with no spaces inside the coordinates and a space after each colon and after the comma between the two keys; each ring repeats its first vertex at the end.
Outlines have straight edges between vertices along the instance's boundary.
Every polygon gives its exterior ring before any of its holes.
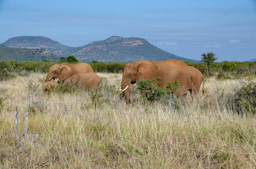
{"type": "MultiPolygon", "coordinates": [[[[46,74],[0,82],[0,168],[255,168],[256,118],[237,114],[232,94],[245,78],[206,78],[192,99],[132,104],[120,99],[122,74],[97,73],[102,88],[41,89],[46,74]],[[21,149],[12,127],[19,111],[21,149]],[[21,137],[21,144],[24,137],[21,137]]],[[[251,81],[256,81],[252,78],[251,81]]]]}

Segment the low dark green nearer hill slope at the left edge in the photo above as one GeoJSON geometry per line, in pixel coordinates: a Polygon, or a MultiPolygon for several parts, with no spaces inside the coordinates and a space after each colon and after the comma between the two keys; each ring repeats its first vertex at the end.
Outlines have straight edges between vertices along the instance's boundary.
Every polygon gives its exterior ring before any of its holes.
{"type": "Polygon", "coordinates": [[[59,61],[59,56],[42,48],[14,48],[0,45],[0,60],[4,61],[59,61]]]}

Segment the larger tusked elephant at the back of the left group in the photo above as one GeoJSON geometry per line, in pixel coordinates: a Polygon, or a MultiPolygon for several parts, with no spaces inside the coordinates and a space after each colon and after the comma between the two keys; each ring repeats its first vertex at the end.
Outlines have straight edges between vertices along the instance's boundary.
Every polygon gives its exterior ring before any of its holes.
{"type": "Polygon", "coordinates": [[[49,69],[48,74],[46,75],[46,81],[50,81],[51,79],[57,79],[58,81],[64,81],[71,75],[77,73],[94,73],[92,66],[86,63],[78,63],[78,64],[55,64],[52,65],[49,69]]]}

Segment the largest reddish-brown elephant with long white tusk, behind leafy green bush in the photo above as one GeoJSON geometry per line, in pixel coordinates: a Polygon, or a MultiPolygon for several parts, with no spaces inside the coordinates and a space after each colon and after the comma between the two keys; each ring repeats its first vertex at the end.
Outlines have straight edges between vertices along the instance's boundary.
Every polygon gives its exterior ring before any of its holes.
{"type": "Polygon", "coordinates": [[[129,86],[131,84],[138,83],[140,79],[155,77],[160,77],[160,83],[157,84],[160,88],[165,87],[167,82],[178,81],[179,90],[173,90],[173,92],[176,92],[179,97],[186,96],[187,92],[192,90],[193,75],[189,66],[183,61],[175,59],[165,61],[137,60],[133,63],[128,63],[124,67],[122,91],[126,103],[128,104],[130,102],[132,88],[129,86]]]}

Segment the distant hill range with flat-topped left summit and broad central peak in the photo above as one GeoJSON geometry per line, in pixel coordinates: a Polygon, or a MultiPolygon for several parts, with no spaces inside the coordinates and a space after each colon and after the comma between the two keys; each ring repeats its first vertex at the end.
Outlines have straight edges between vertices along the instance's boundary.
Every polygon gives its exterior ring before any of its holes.
{"type": "Polygon", "coordinates": [[[197,60],[179,57],[151,45],[142,38],[123,38],[112,36],[104,41],[95,41],[85,46],[70,47],[47,37],[22,36],[8,39],[2,45],[20,48],[45,48],[62,57],[75,56],[79,61],[91,62],[132,62],[135,60],[197,60]]]}

